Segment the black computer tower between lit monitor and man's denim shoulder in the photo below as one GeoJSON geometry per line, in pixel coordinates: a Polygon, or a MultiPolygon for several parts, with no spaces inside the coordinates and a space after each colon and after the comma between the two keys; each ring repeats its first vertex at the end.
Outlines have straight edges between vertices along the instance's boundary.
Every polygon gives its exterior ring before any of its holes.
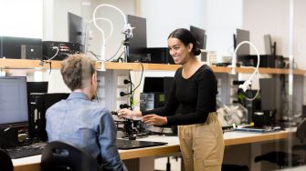
{"type": "Polygon", "coordinates": [[[28,134],[31,138],[47,140],[46,111],[58,101],[66,99],[66,93],[32,93],[29,96],[29,128],[28,134]]]}

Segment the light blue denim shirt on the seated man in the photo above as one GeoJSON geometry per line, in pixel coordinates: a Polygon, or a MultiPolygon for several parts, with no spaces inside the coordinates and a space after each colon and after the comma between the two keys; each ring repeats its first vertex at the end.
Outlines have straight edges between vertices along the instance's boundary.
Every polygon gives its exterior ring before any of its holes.
{"type": "Polygon", "coordinates": [[[101,156],[103,170],[127,170],[116,146],[117,128],[108,109],[91,102],[83,93],[71,93],[47,109],[48,141],[80,146],[92,156],[101,156]]]}

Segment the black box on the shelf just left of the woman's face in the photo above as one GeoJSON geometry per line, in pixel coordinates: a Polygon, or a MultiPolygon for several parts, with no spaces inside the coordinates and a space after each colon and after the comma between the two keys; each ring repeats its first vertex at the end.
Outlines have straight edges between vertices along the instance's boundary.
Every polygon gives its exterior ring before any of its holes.
{"type": "Polygon", "coordinates": [[[174,64],[174,59],[167,47],[148,47],[147,53],[151,55],[150,63],[152,64],[174,64]]]}

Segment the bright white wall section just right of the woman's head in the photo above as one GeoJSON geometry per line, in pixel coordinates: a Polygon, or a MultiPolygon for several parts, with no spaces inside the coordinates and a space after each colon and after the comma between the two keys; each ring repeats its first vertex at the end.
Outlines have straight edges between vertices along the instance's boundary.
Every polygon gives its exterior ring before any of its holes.
{"type": "Polygon", "coordinates": [[[207,0],[207,49],[217,52],[219,62],[234,53],[233,34],[242,27],[242,15],[242,0],[207,0]]]}

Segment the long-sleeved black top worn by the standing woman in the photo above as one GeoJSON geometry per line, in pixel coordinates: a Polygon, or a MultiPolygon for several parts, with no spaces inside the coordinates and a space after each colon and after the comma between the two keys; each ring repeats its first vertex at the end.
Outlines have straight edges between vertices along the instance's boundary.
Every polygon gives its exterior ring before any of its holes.
{"type": "Polygon", "coordinates": [[[194,75],[185,79],[183,67],[176,70],[174,83],[164,107],[143,111],[142,115],[167,116],[168,126],[205,123],[210,112],[216,112],[216,75],[208,65],[202,65],[194,75]],[[181,114],[176,109],[182,105],[181,114]]]}

